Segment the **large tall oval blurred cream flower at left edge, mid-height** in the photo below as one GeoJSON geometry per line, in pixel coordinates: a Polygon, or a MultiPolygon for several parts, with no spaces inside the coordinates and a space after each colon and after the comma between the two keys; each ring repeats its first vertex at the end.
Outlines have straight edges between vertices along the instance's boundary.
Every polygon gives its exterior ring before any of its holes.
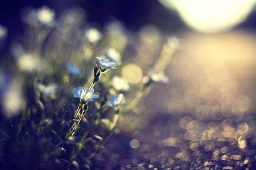
{"type": "Polygon", "coordinates": [[[7,109],[5,116],[11,117],[20,113],[23,101],[21,85],[17,81],[13,81],[2,94],[2,104],[7,109]]]}

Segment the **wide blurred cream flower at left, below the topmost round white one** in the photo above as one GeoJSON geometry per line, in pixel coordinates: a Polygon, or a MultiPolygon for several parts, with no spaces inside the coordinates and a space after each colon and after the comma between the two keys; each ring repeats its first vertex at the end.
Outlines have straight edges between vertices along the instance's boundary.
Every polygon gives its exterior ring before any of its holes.
{"type": "Polygon", "coordinates": [[[30,53],[22,53],[17,59],[17,64],[22,71],[27,72],[41,71],[46,66],[43,59],[30,53]]]}

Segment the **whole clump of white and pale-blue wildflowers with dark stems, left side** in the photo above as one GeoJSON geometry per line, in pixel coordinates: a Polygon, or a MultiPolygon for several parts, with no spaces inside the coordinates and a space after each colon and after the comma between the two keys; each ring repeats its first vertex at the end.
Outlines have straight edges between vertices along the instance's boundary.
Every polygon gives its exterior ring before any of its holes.
{"type": "MultiPolygon", "coordinates": [[[[164,69],[144,81],[145,68],[122,57],[131,36],[120,24],[101,32],[85,28],[83,16],[80,8],[59,18],[49,7],[24,11],[27,42],[10,47],[16,68],[0,69],[0,169],[90,169],[117,128],[126,127],[119,120],[140,111],[154,83],[167,83],[164,69]]],[[[0,41],[6,36],[0,26],[0,41]]]]}

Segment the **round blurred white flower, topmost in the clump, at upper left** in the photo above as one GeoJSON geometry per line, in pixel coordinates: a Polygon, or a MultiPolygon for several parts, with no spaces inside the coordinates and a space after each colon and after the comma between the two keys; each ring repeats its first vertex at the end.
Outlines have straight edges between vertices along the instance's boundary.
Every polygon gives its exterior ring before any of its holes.
{"type": "Polygon", "coordinates": [[[55,19],[55,12],[49,7],[41,7],[37,11],[37,20],[41,24],[50,24],[55,19]]]}

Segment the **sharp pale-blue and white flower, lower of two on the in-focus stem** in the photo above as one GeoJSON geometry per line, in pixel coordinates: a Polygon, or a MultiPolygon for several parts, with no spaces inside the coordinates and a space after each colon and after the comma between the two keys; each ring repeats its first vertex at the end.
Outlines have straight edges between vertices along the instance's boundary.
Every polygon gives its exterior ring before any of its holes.
{"type": "Polygon", "coordinates": [[[73,89],[73,95],[76,98],[82,99],[84,102],[91,102],[93,99],[97,99],[100,96],[98,94],[94,94],[94,89],[89,90],[85,87],[77,87],[73,89]]]}

